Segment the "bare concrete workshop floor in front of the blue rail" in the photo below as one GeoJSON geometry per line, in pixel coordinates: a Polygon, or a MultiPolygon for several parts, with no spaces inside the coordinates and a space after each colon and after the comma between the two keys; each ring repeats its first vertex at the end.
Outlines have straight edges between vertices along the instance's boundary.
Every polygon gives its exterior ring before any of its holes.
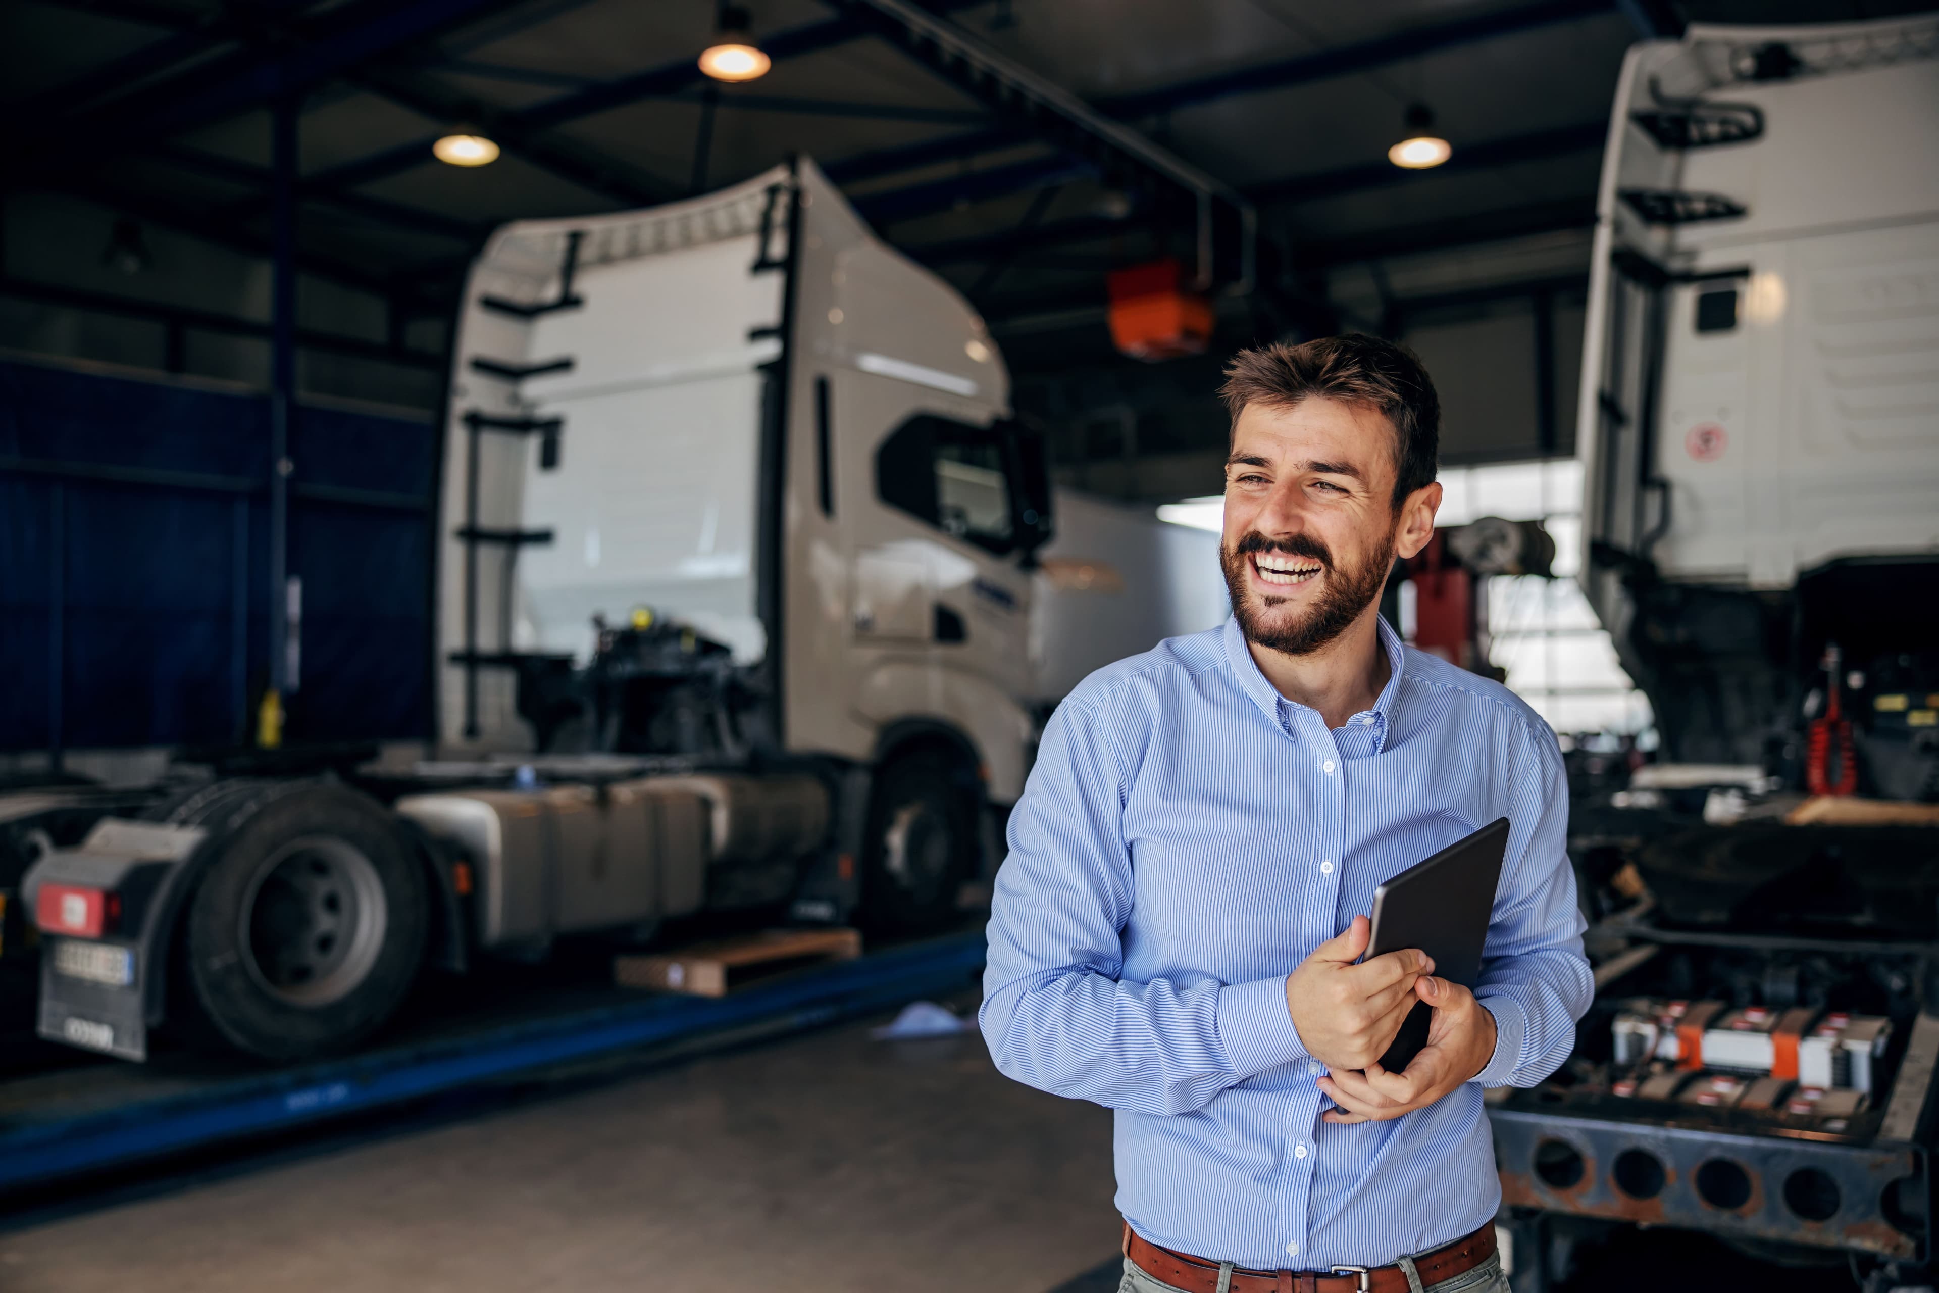
{"type": "Polygon", "coordinates": [[[0,1289],[1041,1293],[1111,1188],[1103,1109],[840,1025],[0,1233],[0,1289]]]}

